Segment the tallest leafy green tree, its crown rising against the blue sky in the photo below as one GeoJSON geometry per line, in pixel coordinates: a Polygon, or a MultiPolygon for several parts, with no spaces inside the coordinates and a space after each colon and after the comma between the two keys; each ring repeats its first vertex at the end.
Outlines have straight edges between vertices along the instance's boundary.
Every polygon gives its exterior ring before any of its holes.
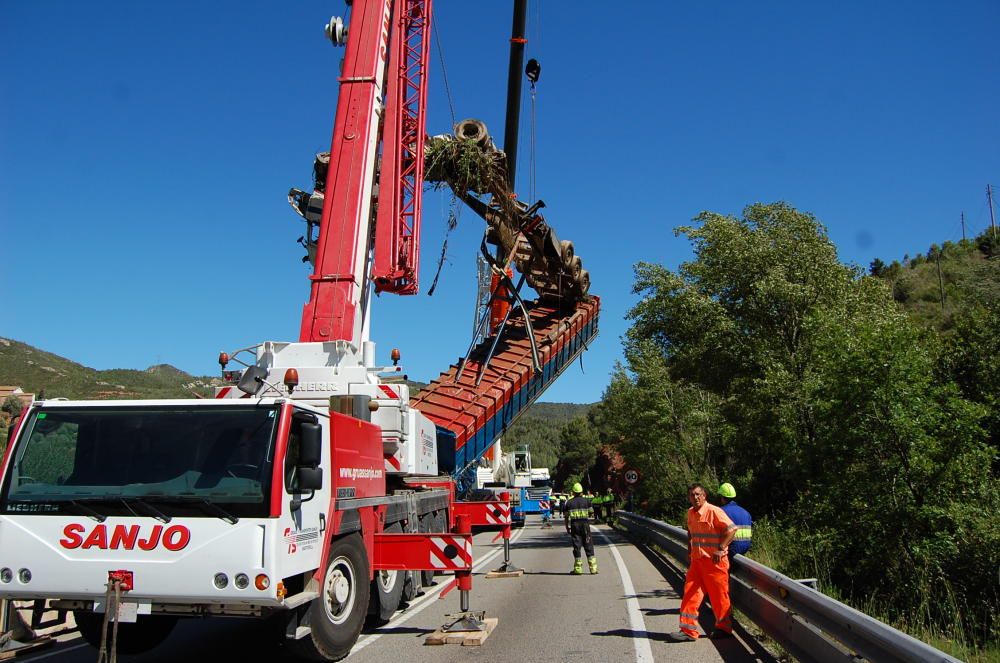
{"type": "Polygon", "coordinates": [[[649,339],[671,375],[715,394],[736,437],[728,462],[752,476],[758,509],[777,511],[811,471],[810,402],[816,312],[840,301],[858,274],[842,265],[814,217],[785,203],[742,219],[705,212],[679,234],[696,259],[677,273],[640,264],[627,344],[649,339]]]}

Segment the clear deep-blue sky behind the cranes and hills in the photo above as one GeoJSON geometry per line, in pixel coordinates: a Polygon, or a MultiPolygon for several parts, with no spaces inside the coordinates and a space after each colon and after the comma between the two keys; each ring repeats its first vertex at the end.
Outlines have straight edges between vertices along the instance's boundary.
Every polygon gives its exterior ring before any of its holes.
{"type": "MultiPolygon", "coordinates": [[[[510,5],[435,23],[459,118],[503,136],[510,5]]],[[[328,149],[340,2],[0,2],[0,336],[98,369],[216,374],[295,340],[308,270],[290,186],[328,149]]],[[[702,210],[786,200],[841,259],[925,252],[989,223],[1000,185],[1000,3],[530,2],[542,63],[537,191],[603,298],[601,337],[544,396],[600,398],[632,266],[675,268],[702,210]]],[[[527,92],[527,88],[526,88],[527,92]]],[[[519,186],[528,192],[525,95],[519,186]]],[[[451,114],[436,47],[428,131],[451,114]]],[[[422,290],[446,197],[426,195],[422,290]]],[[[381,297],[379,359],[429,380],[469,342],[482,222],[463,214],[433,297],[381,297]]]]}

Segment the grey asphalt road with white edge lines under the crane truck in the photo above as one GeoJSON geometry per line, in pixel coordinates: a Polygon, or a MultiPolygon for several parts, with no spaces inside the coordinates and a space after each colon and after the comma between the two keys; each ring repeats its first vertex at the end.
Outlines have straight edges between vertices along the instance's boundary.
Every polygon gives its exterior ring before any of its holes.
{"type": "MultiPolygon", "coordinates": [[[[503,561],[493,532],[475,536],[476,566],[472,610],[496,617],[496,630],[481,647],[425,646],[424,639],[459,610],[459,594],[441,599],[446,578],[397,612],[385,626],[367,629],[351,655],[354,663],[407,661],[676,661],[745,663],[774,659],[737,625],[737,638],[675,644],[666,633],[677,630],[683,587],[682,571],[656,554],[632,546],[618,532],[594,528],[600,573],[572,576],[569,537],[557,523],[542,529],[537,520],[515,530],[511,561],[523,568],[518,578],[488,579],[485,573],[503,561]]],[[[710,609],[702,609],[701,625],[711,632],[710,609]]],[[[75,634],[60,636],[53,648],[19,656],[17,661],[91,663],[96,650],[75,634]]],[[[119,656],[135,663],[184,663],[287,660],[254,620],[199,619],[182,621],[170,639],[142,656],[119,656]]]]}

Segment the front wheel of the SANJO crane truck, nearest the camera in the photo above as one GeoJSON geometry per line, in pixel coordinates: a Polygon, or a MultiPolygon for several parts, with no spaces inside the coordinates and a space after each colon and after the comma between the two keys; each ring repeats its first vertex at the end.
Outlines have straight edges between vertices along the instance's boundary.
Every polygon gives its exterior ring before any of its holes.
{"type": "Polygon", "coordinates": [[[319,661],[339,661],[351,653],[368,614],[371,581],[368,555],[357,533],[330,544],[330,556],[323,574],[320,595],[306,610],[302,625],[308,636],[288,640],[294,656],[319,661]]]}

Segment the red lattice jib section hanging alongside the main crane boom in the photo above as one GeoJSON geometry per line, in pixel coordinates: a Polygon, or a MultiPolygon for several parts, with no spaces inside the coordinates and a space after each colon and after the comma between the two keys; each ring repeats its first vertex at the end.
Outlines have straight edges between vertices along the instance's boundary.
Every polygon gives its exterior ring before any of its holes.
{"type": "Polygon", "coordinates": [[[386,86],[375,223],[375,289],[417,293],[431,0],[399,0],[386,86]]]}

